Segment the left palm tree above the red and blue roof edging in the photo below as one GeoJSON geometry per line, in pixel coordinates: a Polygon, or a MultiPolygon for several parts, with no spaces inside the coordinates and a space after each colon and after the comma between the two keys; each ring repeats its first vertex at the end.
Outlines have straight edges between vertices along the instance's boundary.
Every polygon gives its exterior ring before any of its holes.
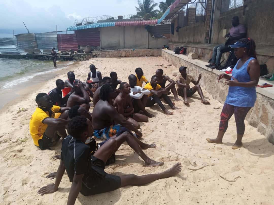
{"type": "Polygon", "coordinates": [[[158,4],[156,4],[153,0],[143,0],[143,2],[138,0],[138,5],[139,8],[135,7],[137,15],[142,16],[144,20],[156,17],[159,11],[157,9],[154,9],[158,4]]]}

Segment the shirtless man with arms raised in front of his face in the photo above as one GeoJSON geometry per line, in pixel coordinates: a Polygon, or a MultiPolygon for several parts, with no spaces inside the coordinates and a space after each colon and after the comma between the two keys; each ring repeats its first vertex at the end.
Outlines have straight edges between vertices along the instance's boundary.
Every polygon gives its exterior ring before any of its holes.
{"type": "Polygon", "coordinates": [[[71,108],[74,105],[81,105],[84,103],[89,103],[91,101],[90,96],[85,90],[83,83],[81,82],[74,83],[73,89],[75,91],[69,96],[67,101],[68,107],[71,108]]]}

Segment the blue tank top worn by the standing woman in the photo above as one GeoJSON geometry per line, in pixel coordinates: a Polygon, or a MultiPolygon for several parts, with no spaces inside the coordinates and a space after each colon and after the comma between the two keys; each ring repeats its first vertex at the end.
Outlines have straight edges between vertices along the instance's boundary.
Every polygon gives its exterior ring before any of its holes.
{"type": "MultiPolygon", "coordinates": [[[[232,76],[239,82],[249,82],[250,76],[247,73],[247,66],[250,60],[254,59],[251,57],[248,59],[241,68],[237,69],[237,64],[235,65],[232,76]]],[[[233,78],[231,78],[233,80],[233,78]]],[[[226,97],[226,102],[229,105],[234,105],[238,107],[253,107],[256,101],[256,88],[244,88],[240,86],[229,86],[228,95],[226,97]]]]}

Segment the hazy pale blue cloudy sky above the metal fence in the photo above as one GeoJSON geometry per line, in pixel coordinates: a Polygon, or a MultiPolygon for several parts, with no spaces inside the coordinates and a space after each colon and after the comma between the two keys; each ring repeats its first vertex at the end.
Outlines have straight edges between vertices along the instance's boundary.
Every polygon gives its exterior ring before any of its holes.
{"type": "MultiPolygon", "coordinates": [[[[159,3],[163,0],[155,0],[159,3]]],[[[77,1],[77,0],[8,0],[2,1],[0,7],[0,37],[13,37],[15,34],[27,33],[26,24],[30,33],[43,33],[66,30],[72,26],[75,19],[82,20],[90,16],[135,14],[137,0],[104,0],[104,1],[77,1]]],[[[158,7],[156,9],[159,9],[158,7]]]]}

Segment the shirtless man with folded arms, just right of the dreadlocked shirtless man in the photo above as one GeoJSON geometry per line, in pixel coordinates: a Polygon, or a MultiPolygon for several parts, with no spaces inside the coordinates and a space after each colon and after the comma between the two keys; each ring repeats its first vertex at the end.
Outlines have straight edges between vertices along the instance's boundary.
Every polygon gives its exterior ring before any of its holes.
{"type": "Polygon", "coordinates": [[[118,113],[123,115],[133,126],[140,128],[138,122],[147,122],[149,118],[145,115],[134,113],[131,97],[130,86],[128,83],[121,83],[119,90],[121,93],[116,97],[113,106],[117,108],[118,113]]]}

